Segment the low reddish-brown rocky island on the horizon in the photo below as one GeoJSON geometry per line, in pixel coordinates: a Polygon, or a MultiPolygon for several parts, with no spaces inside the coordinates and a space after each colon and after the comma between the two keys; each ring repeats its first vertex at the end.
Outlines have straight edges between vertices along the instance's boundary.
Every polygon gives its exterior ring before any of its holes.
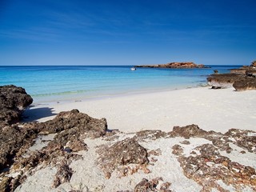
{"type": "Polygon", "coordinates": [[[145,66],[135,66],[135,67],[171,68],[171,69],[209,68],[209,66],[204,66],[202,64],[195,64],[194,62],[169,62],[166,64],[145,65],[145,66]]]}

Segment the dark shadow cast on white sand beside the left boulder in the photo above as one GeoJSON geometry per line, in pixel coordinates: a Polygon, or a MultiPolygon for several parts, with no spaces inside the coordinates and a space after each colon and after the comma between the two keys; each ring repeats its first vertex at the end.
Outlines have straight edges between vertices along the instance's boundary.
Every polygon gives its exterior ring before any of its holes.
{"type": "Polygon", "coordinates": [[[28,108],[22,114],[22,122],[37,122],[40,118],[47,118],[56,115],[53,113],[54,108],[40,107],[40,108],[28,108]]]}

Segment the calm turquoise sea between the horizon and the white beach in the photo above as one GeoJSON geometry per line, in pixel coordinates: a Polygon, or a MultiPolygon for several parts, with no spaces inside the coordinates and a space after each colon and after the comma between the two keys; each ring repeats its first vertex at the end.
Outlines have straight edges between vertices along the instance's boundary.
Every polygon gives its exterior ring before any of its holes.
{"type": "Polygon", "coordinates": [[[206,86],[214,70],[228,72],[238,66],[206,69],[153,69],[131,66],[0,66],[0,86],[22,86],[34,103],[82,100],[158,90],[206,86]]]}

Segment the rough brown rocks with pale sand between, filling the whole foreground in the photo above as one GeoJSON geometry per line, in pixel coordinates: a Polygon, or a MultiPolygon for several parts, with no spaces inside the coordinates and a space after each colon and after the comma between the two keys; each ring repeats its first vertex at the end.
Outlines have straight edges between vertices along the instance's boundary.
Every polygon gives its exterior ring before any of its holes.
{"type": "MultiPolygon", "coordinates": [[[[13,110],[21,105],[13,103],[13,110]]],[[[0,125],[0,191],[256,190],[251,130],[190,125],[125,134],[78,110],[0,125]]]]}

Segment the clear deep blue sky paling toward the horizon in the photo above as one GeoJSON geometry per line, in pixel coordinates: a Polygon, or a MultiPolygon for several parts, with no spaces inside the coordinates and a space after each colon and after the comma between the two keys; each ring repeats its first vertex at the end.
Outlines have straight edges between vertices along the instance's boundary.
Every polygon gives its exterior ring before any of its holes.
{"type": "Polygon", "coordinates": [[[0,65],[249,65],[255,10],[255,0],[0,0],[0,65]]]}

